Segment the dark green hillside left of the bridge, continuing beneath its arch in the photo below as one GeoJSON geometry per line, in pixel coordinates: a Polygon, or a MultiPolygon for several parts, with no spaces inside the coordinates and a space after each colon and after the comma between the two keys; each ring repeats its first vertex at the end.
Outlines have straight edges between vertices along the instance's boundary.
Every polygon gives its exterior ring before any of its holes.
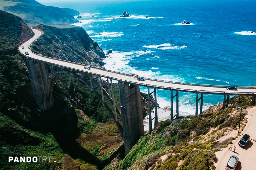
{"type": "Polygon", "coordinates": [[[122,144],[115,123],[89,89],[65,74],[54,88],[55,106],[38,109],[18,52],[32,36],[21,18],[0,11],[0,169],[101,169],[122,144]],[[9,163],[9,156],[56,162],[9,163]]]}

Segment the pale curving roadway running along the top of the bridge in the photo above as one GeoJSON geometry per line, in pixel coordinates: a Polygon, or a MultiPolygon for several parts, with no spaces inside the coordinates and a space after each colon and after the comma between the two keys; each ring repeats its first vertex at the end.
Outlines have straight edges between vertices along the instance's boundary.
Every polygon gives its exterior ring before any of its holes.
{"type": "Polygon", "coordinates": [[[140,84],[141,86],[146,86],[146,87],[153,87],[153,88],[158,88],[158,89],[173,89],[179,91],[188,91],[188,92],[195,92],[199,91],[199,93],[210,93],[210,94],[245,94],[245,93],[256,93],[256,88],[239,88],[236,91],[231,91],[227,90],[226,87],[205,87],[205,86],[191,86],[191,85],[186,85],[186,84],[178,84],[178,83],[170,83],[170,82],[161,82],[161,81],[155,81],[155,80],[147,80],[145,81],[138,81],[135,80],[135,77],[132,77],[130,75],[124,75],[120,74],[117,72],[110,72],[109,70],[104,70],[104,69],[97,69],[95,67],[91,67],[90,70],[84,69],[83,64],[80,63],[74,63],[70,61],[65,61],[65,60],[60,60],[60,59],[54,59],[54,58],[49,58],[49,57],[42,57],[39,54],[35,54],[30,51],[29,46],[31,43],[33,43],[38,37],[41,36],[41,32],[36,29],[32,29],[35,33],[34,37],[29,39],[28,41],[24,42],[20,47],[19,51],[26,57],[30,57],[36,60],[40,60],[43,62],[51,63],[54,65],[70,68],[73,70],[78,70],[81,72],[88,72],[92,73],[95,75],[100,75],[101,77],[106,77],[106,78],[111,78],[113,80],[122,80],[122,81],[128,81],[131,84],[140,84]],[[24,48],[21,48],[24,46],[24,48]],[[29,54],[26,55],[25,52],[28,52],[29,54]]]}

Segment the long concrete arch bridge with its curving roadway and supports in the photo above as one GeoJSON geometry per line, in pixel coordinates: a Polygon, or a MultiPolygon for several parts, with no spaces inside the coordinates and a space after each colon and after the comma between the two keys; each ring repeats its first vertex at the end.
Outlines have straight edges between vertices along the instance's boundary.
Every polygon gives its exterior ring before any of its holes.
{"type": "MultiPolygon", "coordinates": [[[[169,90],[171,92],[170,119],[173,119],[174,116],[176,116],[176,118],[179,117],[179,92],[196,94],[195,114],[202,113],[203,94],[222,95],[223,108],[228,106],[229,96],[231,95],[251,96],[252,105],[255,103],[256,87],[254,86],[237,86],[238,90],[231,91],[226,89],[228,86],[219,85],[171,82],[151,78],[144,78],[144,81],[138,81],[136,80],[137,76],[134,74],[125,74],[97,67],[84,69],[85,65],[80,63],[42,56],[33,53],[29,49],[30,44],[41,35],[40,31],[32,30],[35,33],[34,37],[23,43],[19,47],[19,51],[24,55],[30,73],[35,100],[39,108],[41,110],[47,110],[53,106],[54,99],[52,90],[55,81],[61,73],[71,74],[84,83],[97,96],[116,122],[117,127],[124,137],[126,154],[130,151],[132,146],[136,144],[139,138],[144,135],[140,86],[144,86],[148,89],[148,100],[150,100],[150,94],[154,93],[155,105],[157,104],[157,89],[169,90]],[[24,48],[22,48],[22,46],[24,48]],[[26,54],[26,52],[29,54],[26,54]],[[107,87],[104,88],[102,86],[103,82],[107,84],[107,87]],[[120,103],[115,102],[113,86],[118,86],[120,103]],[[173,100],[175,99],[176,113],[174,115],[173,100]],[[108,102],[112,104],[113,109],[109,108],[108,102]],[[121,116],[122,126],[117,119],[118,114],[121,116]]],[[[148,103],[150,108],[150,101],[148,103]]],[[[152,118],[151,110],[149,109],[149,132],[152,131],[152,120],[155,120],[155,125],[157,124],[157,106],[155,106],[154,116],[155,117],[152,118]]]]}

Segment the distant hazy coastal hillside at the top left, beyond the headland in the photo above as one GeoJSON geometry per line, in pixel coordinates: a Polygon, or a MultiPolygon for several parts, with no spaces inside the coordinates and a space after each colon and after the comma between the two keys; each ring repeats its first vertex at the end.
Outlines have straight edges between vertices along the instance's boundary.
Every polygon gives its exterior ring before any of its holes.
{"type": "Polygon", "coordinates": [[[30,24],[72,24],[79,22],[74,15],[78,11],[68,8],[44,6],[35,0],[1,0],[4,11],[21,17],[30,24]],[[18,2],[10,6],[9,2],[18,2]]]}

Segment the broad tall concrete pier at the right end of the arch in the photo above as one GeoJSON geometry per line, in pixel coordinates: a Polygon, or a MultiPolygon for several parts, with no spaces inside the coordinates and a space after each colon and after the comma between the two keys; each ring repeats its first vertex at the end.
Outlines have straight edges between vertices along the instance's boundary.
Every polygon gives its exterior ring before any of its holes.
{"type": "Polygon", "coordinates": [[[144,135],[139,85],[118,81],[125,153],[144,135]]]}

